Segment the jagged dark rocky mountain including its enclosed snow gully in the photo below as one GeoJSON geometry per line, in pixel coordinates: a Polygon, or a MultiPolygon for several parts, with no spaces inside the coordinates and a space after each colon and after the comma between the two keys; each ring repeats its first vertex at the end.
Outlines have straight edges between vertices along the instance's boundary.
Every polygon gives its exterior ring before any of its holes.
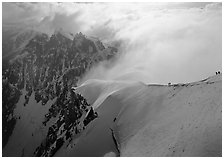
{"type": "MultiPolygon", "coordinates": [[[[3,59],[3,156],[53,156],[73,129],[78,133],[96,116],[71,88],[93,65],[117,54],[82,33],[72,40],[60,31],[28,37],[19,49],[6,49],[3,59]]],[[[15,46],[8,40],[3,37],[3,45],[15,46]]]]}

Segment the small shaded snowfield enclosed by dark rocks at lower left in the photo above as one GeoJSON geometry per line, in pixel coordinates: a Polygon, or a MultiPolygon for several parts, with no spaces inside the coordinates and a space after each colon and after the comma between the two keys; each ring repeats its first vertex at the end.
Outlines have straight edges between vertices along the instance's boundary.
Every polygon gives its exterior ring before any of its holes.
{"type": "Polygon", "coordinates": [[[42,124],[44,115],[54,100],[49,100],[45,106],[42,106],[41,103],[36,103],[34,93],[32,93],[28,104],[24,107],[25,94],[26,91],[23,89],[15,109],[15,116],[19,120],[4,147],[3,156],[33,156],[35,149],[46,136],[49,125],[54,122],[50,121],[46,127],[42,124]]]}

